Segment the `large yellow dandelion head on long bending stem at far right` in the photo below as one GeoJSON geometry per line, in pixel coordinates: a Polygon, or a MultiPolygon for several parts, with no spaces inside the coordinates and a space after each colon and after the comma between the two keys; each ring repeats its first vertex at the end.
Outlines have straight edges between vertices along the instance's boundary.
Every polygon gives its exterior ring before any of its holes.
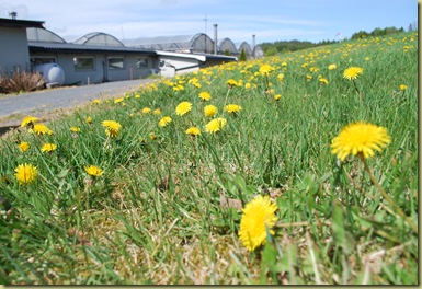
{"type": "Polygon", "coordinates": [[[374,150],[381,151],[391,142],[387,129],[369,123],[358,122],[345,126],[331,141],[331,153],[342,161],[349,155],[362,153],[366,159],[374,155],[374,150]]]}

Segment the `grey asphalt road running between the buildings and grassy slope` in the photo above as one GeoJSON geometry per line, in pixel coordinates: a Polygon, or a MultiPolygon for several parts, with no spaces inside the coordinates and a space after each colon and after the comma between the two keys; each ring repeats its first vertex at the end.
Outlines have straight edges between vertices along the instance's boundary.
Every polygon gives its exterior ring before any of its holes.
{"type": "MultiPolygon", "coordinates": [[[[21,124],[31,115],[48,120],[60,112],[88,104],[93,100],[123,96],[125,92],[137,90],[153,79],[114,81],[83,86],[62,86],[43,91],[0,95],[0,131],[21,124]]],[[[1,134],[1,132],[0,132],[1,134]]]]}

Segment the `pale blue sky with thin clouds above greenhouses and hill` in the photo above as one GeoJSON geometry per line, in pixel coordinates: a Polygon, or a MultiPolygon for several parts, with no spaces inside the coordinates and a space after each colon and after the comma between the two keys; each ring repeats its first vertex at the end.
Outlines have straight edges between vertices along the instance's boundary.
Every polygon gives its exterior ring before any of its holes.
{"type": "Polygon", "coordinates": [[[256,44],[343,39],[418,22],[417,0],[0,0],[0,16],[45,21],[67,41],[91,32],[119,39],[207,33],[256,44]],[[206,19],[206,21],[205,21],[206,19]],[[341,33],[338,35],[338,33],[341,33]]]}

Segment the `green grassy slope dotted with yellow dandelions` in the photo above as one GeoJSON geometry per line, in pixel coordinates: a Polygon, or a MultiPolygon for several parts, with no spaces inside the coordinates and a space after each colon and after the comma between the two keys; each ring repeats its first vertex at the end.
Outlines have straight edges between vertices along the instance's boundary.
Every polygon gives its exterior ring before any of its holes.
{"type": "Polygon", "coordinates": [[[417,38],[402,33],[207,68],[77,109],[47,124],[52,136],[9,135],[0,142],[0,284],[418,284],[418,233],[398,213],[418,224],[417,38]],[[264,63],[275,69],[267,79],[259,73],[264,63]],[[355,80],[364,101],[343,79],[351,66],[364,68],[355,80]],[[242,85],[230,89],[229,79],[242,85]],[[192,111],[179,116],[182,101],[192,111]],[[229,103],[242,111],[229,115],[229,103]],[[216,134],[205,131],[207,104],[227,119],[216,134]],[[172,118],[166,127],[162,116],[172,118]],[[106,119],[122,125],[116,138],[106,137],[106,119]],[[367,163],[395,206],[357,158],[331,154],[331,140],[357,120],[391,136],[367,163]],[[185,134],[193,125],[201,136],[185,134]],[[57,150],[42,152],[46,142],[57,150]],[[19,185],[22,163],[37,167],[34,183],[19,185]],[[90,164],[103,175],[90,177],[90,164]],[[250,253],[238,238],[239,205],[260,194],[276,203],[278,223],[250,253]]]}

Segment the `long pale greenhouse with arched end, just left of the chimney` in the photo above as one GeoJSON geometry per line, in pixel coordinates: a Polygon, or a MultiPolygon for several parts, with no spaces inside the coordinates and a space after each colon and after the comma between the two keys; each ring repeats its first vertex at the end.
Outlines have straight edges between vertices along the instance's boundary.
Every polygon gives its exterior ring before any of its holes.
{"type": "Polygon", "coordinates": [[[212,54],[214,51],[213,39],[204,33],[194,35],[140,37],[135,39],[124,39],[123,43],[126,46],[132,47],[175,53],[212,54]]]}

